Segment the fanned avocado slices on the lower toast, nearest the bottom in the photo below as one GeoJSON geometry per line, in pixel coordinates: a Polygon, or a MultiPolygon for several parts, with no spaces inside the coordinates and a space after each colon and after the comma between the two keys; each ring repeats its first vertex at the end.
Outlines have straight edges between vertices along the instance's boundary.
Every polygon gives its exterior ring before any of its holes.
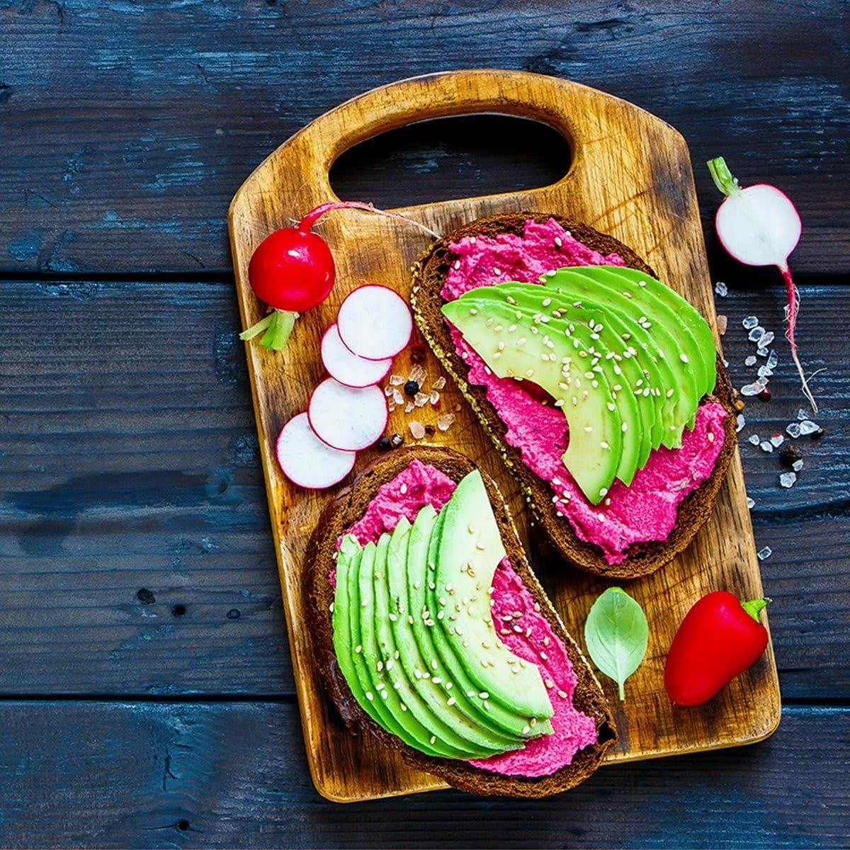
{"type": "Polygon", "coordinates": [[[492,622],[504,557],[478,472],[439,515],[426,506],[377,545],[343,538],[331,621],[339,669],[364,711],[416,750],[488,758],[553,732],[540,670],[492,622]]]}

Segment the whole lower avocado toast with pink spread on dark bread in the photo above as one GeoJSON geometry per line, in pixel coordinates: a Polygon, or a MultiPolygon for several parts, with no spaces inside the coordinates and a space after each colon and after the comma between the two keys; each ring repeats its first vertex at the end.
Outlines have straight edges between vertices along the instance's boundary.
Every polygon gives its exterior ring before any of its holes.
{"type": "Polygon", "coordinates": [[[466,456],[402,449],[331,501],[309,550],[331,699],[355,733],[485,795],[580,783],[615,741],[608,703],[466,456]]]}

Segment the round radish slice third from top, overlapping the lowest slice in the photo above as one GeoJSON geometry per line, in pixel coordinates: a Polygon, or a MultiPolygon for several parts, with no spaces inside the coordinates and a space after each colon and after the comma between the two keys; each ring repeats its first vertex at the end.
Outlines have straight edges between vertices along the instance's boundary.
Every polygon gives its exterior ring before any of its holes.
{"type": "Polygon", "coordinates": [[[387,428],[387,399],[380,387],[346,387],[329,377],[313,390],[307,408],[310,428],[335,449],[365,449],[387,428]]]}

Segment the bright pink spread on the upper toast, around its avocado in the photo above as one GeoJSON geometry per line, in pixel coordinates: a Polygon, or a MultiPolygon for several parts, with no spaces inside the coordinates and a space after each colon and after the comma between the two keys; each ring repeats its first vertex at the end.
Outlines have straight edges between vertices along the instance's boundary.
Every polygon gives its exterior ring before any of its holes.
{"type": "MultiPolygon", "coordinates": [[[[466,236],[450,249],[457,259],[443,286],[446,301],[507,280],[539,283],[544,272],[562,266],[624,265],[617,254],[606,256],[575,240],[552,218],[542,224],[527,221],[522,237],[466,236]]],[[[564,414],[527,392],[523,382],[493,375],[461,334],[453,327],[450,331],[457,353],[469,365],[469,382],[486,388],[487,400],[507,426],[507,444],[519,449],[525,466],[550,484],[558,513],[581,540],[600,547],[609,564],[625,560],[632,543],[666,540],[679,502],[711,475],[723,449],[723,405],[700,405],[694,430],[685,430],[680,449],[653,451],[632,484],[615,481],[604,501],[592,505],[561,460],[569,439],[564,414]]]]}

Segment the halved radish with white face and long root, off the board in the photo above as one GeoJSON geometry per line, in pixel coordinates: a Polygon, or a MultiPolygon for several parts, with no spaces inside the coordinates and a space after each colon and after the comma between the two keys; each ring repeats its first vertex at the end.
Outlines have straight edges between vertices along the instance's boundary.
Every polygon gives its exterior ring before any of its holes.
{"type": "Polygon", "coordinates": [[[800,297],[791,278],[788,258],[800,241],[800,215],[791,198],[775,186],[760,183],[741,189],[723,156],[716,156],[707,164],[717,189],[726,195],[726,200],[717,209],[714,219],[717,238],[723,247],[740,263],[754,266],[775,265],[785,280],[785,291],[788,294],[788,304],[785,307],[788,330],[785,331],[785,336],[791,345],[791,357],[800,375],[803,395],[812,405],[812,410],[817,413],[818,405],[808,388],[808,379],[802,371],[794,338],[800,297]]]}

